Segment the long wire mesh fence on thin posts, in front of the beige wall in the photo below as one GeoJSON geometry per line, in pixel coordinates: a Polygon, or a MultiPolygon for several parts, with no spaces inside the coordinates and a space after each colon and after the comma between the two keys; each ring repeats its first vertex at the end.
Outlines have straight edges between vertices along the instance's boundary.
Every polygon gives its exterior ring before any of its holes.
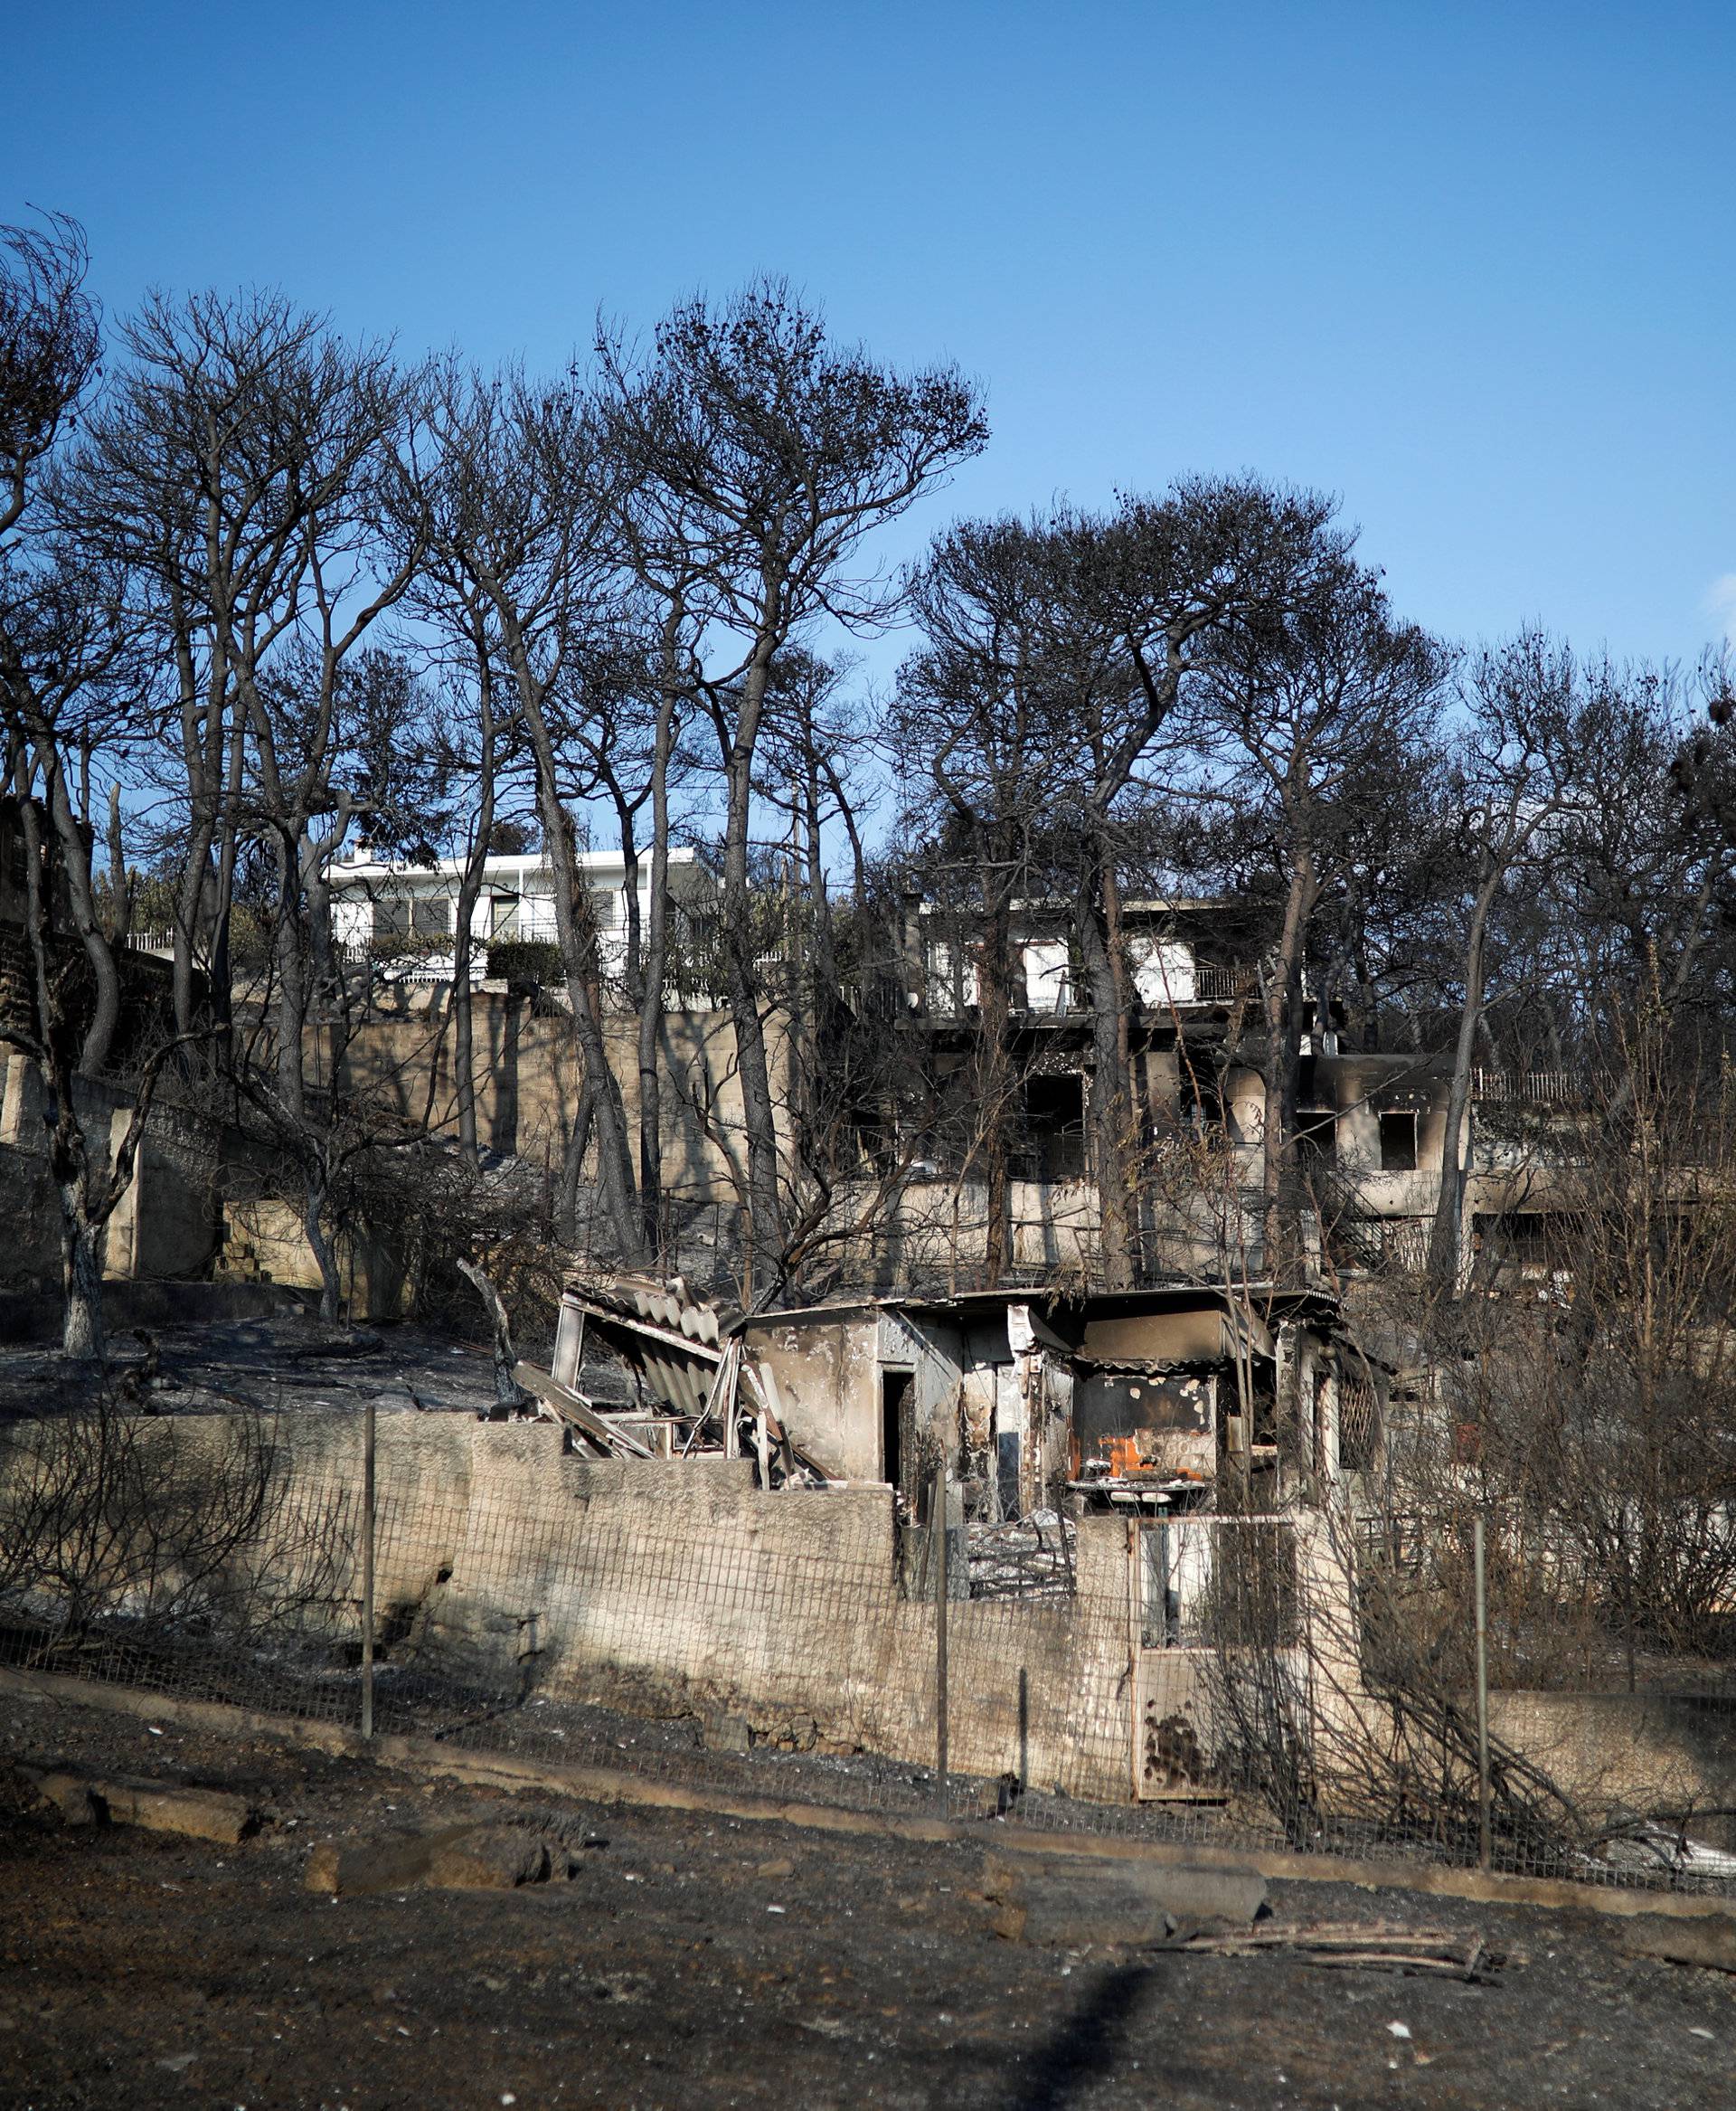
{"type": "MultiPolygon", "coordinates": [[[[17,1476],[4,1499],[0,1661],[344,1729],[371,1693],[378,1735],[696,1794],[1479,1860],[1472,1701],[1430,1712],[1375,1674],[1325,1617],[1295,1520],[1050,1522],[1008,1539],[1017,1587],[966,1596],[981,1562],[937,1587],[932,1533],[899,1535],[886,1490],[764,1495],[745,1461],[551,1471],[557,1438],[479,1429],[445,1492],[384,1476],[371,1590],[359,1433],[319,1471],[194,1446],[215,1524],[160,1440],[127,1471],[108,1440],[103,1501],[72,1492],[63,1452],[34,1509],[17,1476]]],[[[1624,1737],[1618,1712],[1605,1744],[1624,1737]]],[[[1500,1735],[1491,1777],[1498,1870],[1736,1889],[1721,1813],[1679,1782],[1593,1807],[1500,1735]]]]}

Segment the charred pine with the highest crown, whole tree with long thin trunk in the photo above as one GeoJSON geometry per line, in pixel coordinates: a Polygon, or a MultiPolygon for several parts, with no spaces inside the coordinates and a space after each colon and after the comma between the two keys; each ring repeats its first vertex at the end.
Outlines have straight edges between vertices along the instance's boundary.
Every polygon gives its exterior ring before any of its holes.
{"type": "Polygon", "coordinates": [[[690,300],[639,363],[599,359],[620,481],[620,538],[648,593],[696,612],[715,648],[705,695],[724,775],[724,963],[747,1134],[749,1296],[789,1267],[776,1108],[749,868],[753,762],[774,657],[818,619],[884,623],[896,597],[850,576],[861,538],[987,439],[975,391],[939,369],[899,376],[789,287],[690,300]]]}

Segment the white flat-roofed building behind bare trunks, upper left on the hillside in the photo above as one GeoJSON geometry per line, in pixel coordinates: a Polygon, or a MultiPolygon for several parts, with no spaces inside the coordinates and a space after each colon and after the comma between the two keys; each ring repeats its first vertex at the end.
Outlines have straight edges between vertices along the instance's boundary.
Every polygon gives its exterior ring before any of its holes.
{"type": "MultiPolygon", "coordinates": [[[[591,891],[601,939],[603,973],[626,961],[626,861],[620,851],[580,851],[578,866],[591,891]]],[[[373,956],[394,980],[449,982],[451,939],[464,859],[435,866],[399,866],[356,851],[331,868],[331,925],[352,956],[373,956]]],[[[639,920],[650,918],[650,859],[639,866],[639,920]]],[[[677,901],[709,893],[711,872],[698,851],[669,853],[669,891],[677,901]]],[[[483,891],[470,914],[472,975],[485,973],[487,948],[506,939],[555,942],[555,872],[542,851],[489,857],[483,891]]]]}

